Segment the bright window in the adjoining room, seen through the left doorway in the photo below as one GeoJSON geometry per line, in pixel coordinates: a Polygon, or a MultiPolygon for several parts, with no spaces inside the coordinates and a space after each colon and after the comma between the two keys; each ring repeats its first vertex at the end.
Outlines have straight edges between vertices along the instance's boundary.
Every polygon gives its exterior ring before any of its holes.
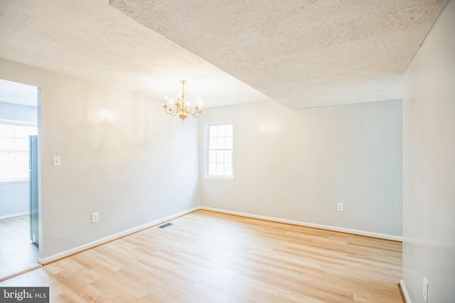
{"type": "Polygon", "coordinates": [[[28,136],[36,126],[0,123],[0,180],[28,179],[28,136]]]}

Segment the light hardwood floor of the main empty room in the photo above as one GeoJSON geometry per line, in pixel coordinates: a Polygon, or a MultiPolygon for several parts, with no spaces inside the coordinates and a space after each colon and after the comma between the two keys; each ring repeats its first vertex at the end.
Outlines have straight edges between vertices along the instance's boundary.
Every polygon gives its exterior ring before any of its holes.
{"type": "Polygon", "coordinates": [[[50,302],[402,302],[402,244],[195,211],[0,286],[50,302]]]}

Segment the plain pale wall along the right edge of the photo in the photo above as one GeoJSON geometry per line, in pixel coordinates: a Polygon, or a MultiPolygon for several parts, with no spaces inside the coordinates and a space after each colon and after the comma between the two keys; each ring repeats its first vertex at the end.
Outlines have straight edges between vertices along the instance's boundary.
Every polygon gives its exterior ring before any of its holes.
{"type": "Polygon", "coordinates": [[[412,303],[455,299],[455,1],[405,72],[403,281],[412,303]]]}

